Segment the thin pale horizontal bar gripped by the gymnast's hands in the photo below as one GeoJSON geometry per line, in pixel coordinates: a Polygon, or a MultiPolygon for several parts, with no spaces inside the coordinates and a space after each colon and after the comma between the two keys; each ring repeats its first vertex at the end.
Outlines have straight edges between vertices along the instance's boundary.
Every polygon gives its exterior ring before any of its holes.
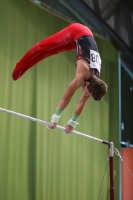
{"type": "MultiPolygon", "coordinates": [[[[27,116],[27,115],[23,115],[23,114],[20,114],[20,113],[11,111],[11,110],[7,110],[7,109],[4,109],[4,108],[0,108],[0,111],[6,112],[6,113],[9,113],[9,114],[12,114],[12,115],[16,115],[16,116],[19,116],[19,117],[22,117],[22,118],[25,118],[25,119],[29,119],[31,121],[38,122],[40,124],[45,124],[45,125],[50,124],[50,122],[46,122],[46,121],[43,121],[43,120],[40,120],[40,119],[37,119],[37,118],[33,118],[33,117],[30,117],[30,116],[27,116]]],[[[56,128],[65,131],[65,128],[62,127],[62,126],[57,125],[56,128]]],[[[90,135],[86,135],[84,133],[81,133],[81,132],[78,132],[78,131],[75,131],[75,130],[72,133],[80,135],[80,136],[83,136],[83,137],[86,137],[86,138],[89,138],[89,139],[92,139],[92,140],[96,140],[96,141],[101,142],[101,143],[106,144],[106,145],[110,145],[110,142],[108,142],[108,141],[101,140],[99,138],[92,137],[90,135]]]]}

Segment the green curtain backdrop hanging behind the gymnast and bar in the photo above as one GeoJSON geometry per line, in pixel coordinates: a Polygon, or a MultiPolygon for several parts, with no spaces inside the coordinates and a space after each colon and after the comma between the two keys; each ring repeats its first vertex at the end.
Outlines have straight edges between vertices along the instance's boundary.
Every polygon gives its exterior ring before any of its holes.
{"type": "MultiPolygon", "coordinates": [[[[16,62],[38,41],[68,25],[27,1],[0,2],[0,107],[50,121],[75,76],[75,51],[49,57],[18,81],[16,62]]],[[[114,142],[119,149],[118,52],[95,37],[102,58],[106,97],[90,99],[76,130],[114,142]]],[[[64,110],[59,125],[71,118],[82,91],[64,110]]],[[[0,113],[0,200],[97,200],[108,147],[61,130],[0,113]]],[[[119,199],[119,159],[114,159],[115,198],[119,199]]],[[[100,198],[109,199],[109,166],[100,198]]]]}

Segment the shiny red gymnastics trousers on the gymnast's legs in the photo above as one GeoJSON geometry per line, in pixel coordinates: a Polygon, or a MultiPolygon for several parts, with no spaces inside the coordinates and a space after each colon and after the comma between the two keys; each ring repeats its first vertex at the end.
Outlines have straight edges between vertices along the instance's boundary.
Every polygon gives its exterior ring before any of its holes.
{"type": "Polygon", "coordinates": [[[75,41],[84,35],[93,36],[88,27],[74,23],[38,42],[16,63],[12,73],[13,80],[20,78],[28,69],[48,56],[76,49],[75,41]]]}

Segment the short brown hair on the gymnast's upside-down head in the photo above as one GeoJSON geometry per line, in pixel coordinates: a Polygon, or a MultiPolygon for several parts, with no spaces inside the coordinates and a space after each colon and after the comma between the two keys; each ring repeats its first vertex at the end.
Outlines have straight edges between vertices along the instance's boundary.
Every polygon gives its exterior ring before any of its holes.
{"type": "Polygon", "coordinates": [[[107,93],[107,84],[96,76],[92,76],[87,81],[90,83],[87,88],[92,94],[93,99],[96,101],[101,100],[107,93]]]}

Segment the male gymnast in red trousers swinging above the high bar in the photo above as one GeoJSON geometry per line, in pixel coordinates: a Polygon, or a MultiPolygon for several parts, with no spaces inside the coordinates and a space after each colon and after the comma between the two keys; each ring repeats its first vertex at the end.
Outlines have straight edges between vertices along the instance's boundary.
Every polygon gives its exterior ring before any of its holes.
{"type": "Polygon", "coordinates": [[[99,78],[101,58],[91,30],[79,23],[69,25],[35,44],[17,62],[12,73],[13,80],[17,80],[28,69],[46,57],[73,49],[76,50],[76,75],[59,101],[55,114],[52,115],[51,123],[48,125],[50,129],[56,128],[62,111],[67,107],[76,90],[82,87],[83,94],[72,118],[65,125],[66,133],[72,132],[75,128],[88,99],[93,97],[94,100],[101,100],[107,92],[107,84],[99,78]]]}

